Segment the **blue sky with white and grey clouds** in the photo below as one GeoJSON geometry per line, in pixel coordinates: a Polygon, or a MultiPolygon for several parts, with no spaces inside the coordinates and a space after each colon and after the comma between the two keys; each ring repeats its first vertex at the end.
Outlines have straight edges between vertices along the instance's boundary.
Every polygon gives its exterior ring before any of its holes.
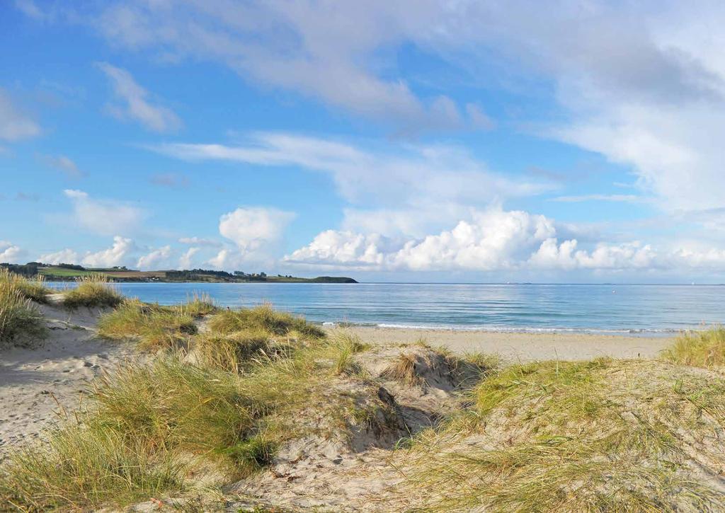
{"type": "Polygon", "coordinates": [[[725,282],[718,1],[9,0],[0,262],[725,282]]]}

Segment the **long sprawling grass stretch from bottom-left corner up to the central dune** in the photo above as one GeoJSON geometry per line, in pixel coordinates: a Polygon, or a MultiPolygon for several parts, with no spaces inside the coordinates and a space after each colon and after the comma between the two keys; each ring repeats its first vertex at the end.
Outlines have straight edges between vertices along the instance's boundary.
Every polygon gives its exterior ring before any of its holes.
{"type": "MultiPolygon", "coordinates": [[[[175,356],[122,368],[96,382],[77,422],[0,466],[0,502],[35,510],[123,506],[193,488],[204,472],[226,482],[250,475],[281,444],[319,433],[320,418],[335,430],[363,411],[355,393],[334,389],[338,353],[337,344],[318,341],[260,356],[241,375],[175,356]]],[[[383,408],[377,387],[370,390],[368,409],[383,408]]]]}

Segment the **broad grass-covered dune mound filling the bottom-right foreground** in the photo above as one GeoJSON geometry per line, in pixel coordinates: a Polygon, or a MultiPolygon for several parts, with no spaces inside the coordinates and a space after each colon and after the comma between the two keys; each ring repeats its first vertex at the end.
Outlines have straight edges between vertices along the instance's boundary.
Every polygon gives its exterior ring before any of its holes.
{"type": "Polygon", "coordinates": [[[484,379],[407,454],[426,507],[496,511],[721,506],[725,381],[660,362],[540,362],[484,379]]]}

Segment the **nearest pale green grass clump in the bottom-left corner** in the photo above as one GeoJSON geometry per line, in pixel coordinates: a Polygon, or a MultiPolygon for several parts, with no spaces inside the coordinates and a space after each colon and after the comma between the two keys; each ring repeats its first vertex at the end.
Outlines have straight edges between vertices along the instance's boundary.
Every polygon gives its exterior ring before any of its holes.
{"type": "Polygon", "coordinates": [[[0,466],[0,502],[17,511],[81,511],[131,504],[183,488],[181,468],[145,441],[97,418],[67,421],[44,446],[11,454],[0,466]]]}

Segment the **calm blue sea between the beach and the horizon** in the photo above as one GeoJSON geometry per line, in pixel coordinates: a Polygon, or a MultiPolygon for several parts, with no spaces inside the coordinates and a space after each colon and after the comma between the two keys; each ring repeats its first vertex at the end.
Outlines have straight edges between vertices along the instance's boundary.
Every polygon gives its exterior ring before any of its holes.
{"type": "MultiPolygon", "coordinates": [[[[72,284],[54,283],[66,287],[72,284]]],[[[493,331],[657,336],[725,323],[721,285],[428,283],[120,283],[126,296],[176,304],[207,293],[221,306],[276,308],[313,322],[493,331]]]]}

